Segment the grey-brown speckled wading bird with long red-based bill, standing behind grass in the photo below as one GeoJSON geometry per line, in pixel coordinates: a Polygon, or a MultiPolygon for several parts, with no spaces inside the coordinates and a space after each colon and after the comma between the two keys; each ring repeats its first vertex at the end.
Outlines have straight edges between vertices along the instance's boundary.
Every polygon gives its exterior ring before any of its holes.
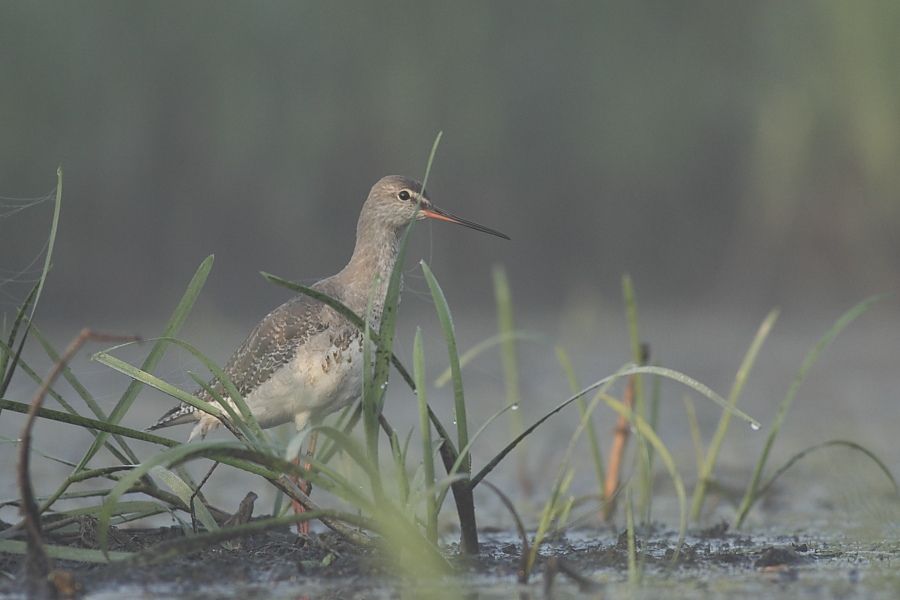
{"type": "MultiPolygon", "coordinates": [[[[437,208],[419,182],[390,175],[372,187],[363,204],[350,262],[313,287],[340,300],[358,315],[370,314],[370,322],[377,328],[387,283],[397,260],[400,234],[416,218],[456,223],[509,239],[499,231],[437,208]]],[[[262,427],[293,420],[302,430],[361,396],[362,354],[363,334],[358,328],[333,309],[301,295],[257,324],[228,361],[225,373],[262,427]]],[[[214,380],[210,385],[227,396],[220,382],[214,380]]],[[[195,395],[213,402],[205,390],[195,395]]],[[[164,414],[150,429],[191,422],[196,425],[189,440],[202,438],[221,424],[217,417],[182,404],[164,414]]]]}

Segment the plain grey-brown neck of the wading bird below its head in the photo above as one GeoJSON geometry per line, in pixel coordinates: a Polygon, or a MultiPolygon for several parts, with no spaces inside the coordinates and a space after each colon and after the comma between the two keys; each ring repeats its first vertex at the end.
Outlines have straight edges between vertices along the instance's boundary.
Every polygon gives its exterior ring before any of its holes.
{"type": "Polygon", "coordinates": [[[356,314],[365,315],[371,302],[374,315],[381,315],[399,243],[398,232],[393,227],[360,219],[353,256],[337,275],[343,284],[344,302],[356,314]]]}

